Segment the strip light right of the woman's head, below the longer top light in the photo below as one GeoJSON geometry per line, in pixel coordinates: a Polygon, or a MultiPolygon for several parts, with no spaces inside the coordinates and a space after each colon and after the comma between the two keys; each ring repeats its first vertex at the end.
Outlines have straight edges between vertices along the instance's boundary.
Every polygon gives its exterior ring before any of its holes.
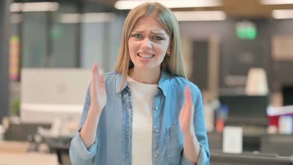
{"type": "Polygon", "coordinates": [[[210,21],[225,20],[223,11],[174,11],[178,21],[210,21]]]}

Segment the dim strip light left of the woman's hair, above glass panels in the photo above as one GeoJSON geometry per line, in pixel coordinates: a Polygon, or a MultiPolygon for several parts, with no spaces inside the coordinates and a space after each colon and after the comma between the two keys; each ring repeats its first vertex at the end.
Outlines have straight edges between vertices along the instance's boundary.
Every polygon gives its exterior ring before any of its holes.
{"type": "Polygon", "coordinates": [[[61,14],[59,21],[61,23],[93,23],[93,22],[110,22],[115,17],[112,12],[96,13],[69,13],[61,14]]]}

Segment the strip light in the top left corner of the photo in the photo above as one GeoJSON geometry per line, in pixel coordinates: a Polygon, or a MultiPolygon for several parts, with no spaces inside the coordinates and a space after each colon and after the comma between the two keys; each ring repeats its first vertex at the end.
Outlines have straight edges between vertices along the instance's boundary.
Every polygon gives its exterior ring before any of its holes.
{"type": "Polygon", "coordinates": [[[10,11],[56,11],[59,8],[58,2],[26,2],[11,3],[10,11]]]}

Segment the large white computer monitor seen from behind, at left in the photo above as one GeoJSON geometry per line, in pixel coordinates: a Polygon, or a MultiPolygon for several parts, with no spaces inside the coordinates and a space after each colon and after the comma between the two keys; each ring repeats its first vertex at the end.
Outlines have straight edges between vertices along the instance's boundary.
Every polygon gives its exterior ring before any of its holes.
{"type": "Polygon", "coordinates": [[[80,120],[90,69],[23,68],[20,119],[51,124],[54,119],[80,120]]]}

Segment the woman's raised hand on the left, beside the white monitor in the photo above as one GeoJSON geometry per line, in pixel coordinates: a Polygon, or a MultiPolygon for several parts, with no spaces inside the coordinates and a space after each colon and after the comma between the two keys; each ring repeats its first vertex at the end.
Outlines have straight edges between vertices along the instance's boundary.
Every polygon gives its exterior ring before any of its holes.
{"type": "Polygon", "coordinates": [[[107,102],[107,95],[106,89],[104,85],[103,75],[99,74],[99,67],[95,62],[92,67],[92,79],[90,85],[90,106],[91,108],[101,113],[102,109],[106,105],[107,102]]]}

